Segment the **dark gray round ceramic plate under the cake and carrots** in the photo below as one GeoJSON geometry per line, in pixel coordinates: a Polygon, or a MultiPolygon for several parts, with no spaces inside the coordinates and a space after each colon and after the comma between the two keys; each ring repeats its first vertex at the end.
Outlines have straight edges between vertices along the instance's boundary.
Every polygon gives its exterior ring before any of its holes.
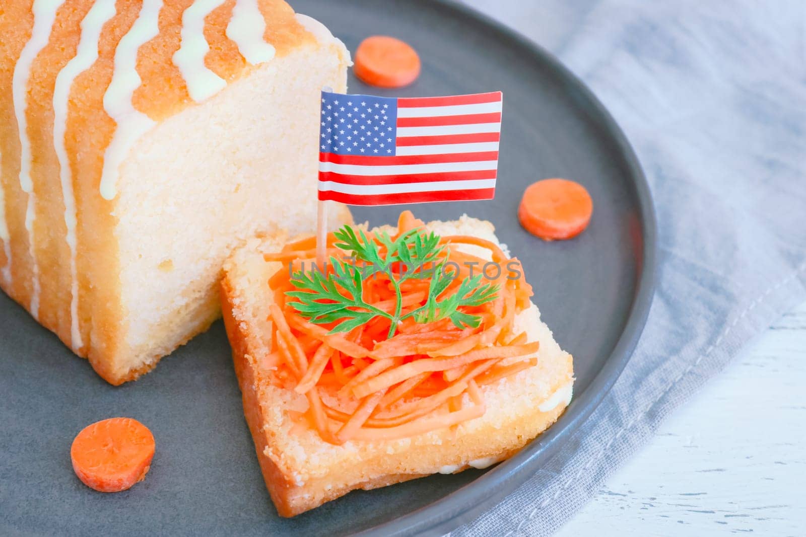
{"type": "MultiPolygon", "coordinates": [[[[569,72],[517,35],[447,2],[297,0],[355,50],[372,34],[420,52],[411,87],[388,93],[351,79],[353,93],[430,96],[501,89],[504,120],[496,199],[411,209],[425,219],[491,220],[526,266],[543,319],[574,355],[575,399],[548,432],[487,472],[433,476],[358,491],[292,520],[278,518],[243,419],[222,324],[119,388],[98,378],[56,337],[0,298],[0,533],[100,532],[248,535],[438,534],[501,501],[563,444],[612,386],[650,304],[654,215],[628,143],[569,72]],[[584,184],[590,228],[568,242],[524,232],[515,211],[534,180],[584,184]],[[147,480],[99,494],[76,479],[69,445],[87,423],[126,415],[154,432],[147,480]]],[[[356,209],[372,224],[399,207],[356,209]]]]}

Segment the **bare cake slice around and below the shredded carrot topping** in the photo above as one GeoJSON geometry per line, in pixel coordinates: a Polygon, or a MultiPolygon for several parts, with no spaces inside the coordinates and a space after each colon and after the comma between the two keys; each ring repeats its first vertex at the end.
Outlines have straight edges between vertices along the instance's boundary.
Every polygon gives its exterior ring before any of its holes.
{"type": "MultiPolygon", "coordinates": [[[[492,235],[492,225],[472,218],[429,226],[442,232],[492,235]]],[[[355,489],[487,467],[512,456],[554,423],[567,406],[573,382],[571,355],[559,349],[538,316],[530,316],[525,322],[541,341],[538,366],[485,387],[487,413],[460,424],[455,432],[442,429],[411,439],[334,446],[310,429],[298,431],[288,414],[296,404],[293,394],[274,386],[272,371],[261,365],[269,352],[262,312],[273,296],[266,282],[278,268],[276,263],[264,262],[262,255],[279,250],[282,244],[282,238],[247,244],[225,264],[221,284],[244,415],[264,481],[281,516],[295,516],[355,489]],[[266,304],[257,304],[261,300],[266,304]],[[567,397],[563,390],[568,390],[567,397]],[[563,396],[556,397],[558,392],[563,396]]]]}

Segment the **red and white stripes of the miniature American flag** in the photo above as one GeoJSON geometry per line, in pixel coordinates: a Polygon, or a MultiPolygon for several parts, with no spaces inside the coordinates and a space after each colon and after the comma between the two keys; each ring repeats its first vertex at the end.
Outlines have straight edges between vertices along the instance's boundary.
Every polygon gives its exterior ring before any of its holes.
{"type": "Polygon", "coordinates": [[[319,199],[355,205],[491,200],[501,92],[399,98],[395,156],[319,155],[319,199]]]}

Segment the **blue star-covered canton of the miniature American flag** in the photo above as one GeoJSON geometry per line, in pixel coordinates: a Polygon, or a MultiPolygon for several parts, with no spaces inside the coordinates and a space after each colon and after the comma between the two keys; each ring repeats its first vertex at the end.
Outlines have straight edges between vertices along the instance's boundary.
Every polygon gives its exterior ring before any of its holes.
{"type": "Polygon", "coordinates": [[[396,98],[322,92],[322,153],[395,156],[396,131],[396,98]]]}

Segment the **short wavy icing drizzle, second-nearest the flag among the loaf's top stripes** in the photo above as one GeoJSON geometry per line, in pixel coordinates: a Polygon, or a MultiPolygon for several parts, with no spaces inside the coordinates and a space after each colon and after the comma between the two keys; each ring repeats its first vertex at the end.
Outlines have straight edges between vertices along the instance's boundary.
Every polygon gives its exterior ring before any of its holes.
{"type": "Polygon", "coordinates": [[[204,101],[226,87],[226,81],[204,64],[210,45],[204,37],[204,19],[224,0],[195,0],[182,13],[179,50],[173,54],[173,64],[179,68],[193,101],[204,101]]]}

